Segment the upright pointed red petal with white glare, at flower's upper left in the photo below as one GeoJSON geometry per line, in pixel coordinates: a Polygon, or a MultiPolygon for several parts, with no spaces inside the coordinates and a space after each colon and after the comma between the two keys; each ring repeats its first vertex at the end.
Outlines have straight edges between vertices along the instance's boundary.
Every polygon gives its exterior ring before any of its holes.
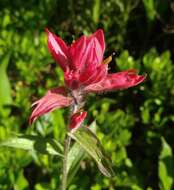
{"type": "Polygon", "coordinates": [[[48,49],[55,59],[55,61],[60,65],[63,71],[68,67],[68,47],[65,42],[56,36],[54,33],[46,29],[48,34],[48,49]]]}

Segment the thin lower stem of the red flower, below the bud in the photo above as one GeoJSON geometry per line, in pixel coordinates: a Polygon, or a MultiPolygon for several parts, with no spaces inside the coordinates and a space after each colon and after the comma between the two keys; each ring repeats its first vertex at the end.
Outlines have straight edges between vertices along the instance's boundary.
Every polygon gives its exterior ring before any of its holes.
{"type": "Polygon", "coordinates": [[[66,190],[66,186],[67,186],[67,177],[68,177],[67,161],[68,161],[68,152],[70,148],[70,143],[71,143],[71,137],[67,136],[65,139],[65,144],[64,144],[63,177],[62,177],[61,190],[66,190]]]}

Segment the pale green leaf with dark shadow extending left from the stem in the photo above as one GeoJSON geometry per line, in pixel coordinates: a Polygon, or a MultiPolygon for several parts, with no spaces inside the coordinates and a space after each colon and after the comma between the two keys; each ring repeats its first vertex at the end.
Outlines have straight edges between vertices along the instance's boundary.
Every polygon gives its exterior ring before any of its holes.
{"type": "Polygon", "coordinates": [[[0,147],[12,147],[36,151],[41,154],[62,155],[62,145],[56,140],[34,135],[22,135],[0,142],[0,147]]]}

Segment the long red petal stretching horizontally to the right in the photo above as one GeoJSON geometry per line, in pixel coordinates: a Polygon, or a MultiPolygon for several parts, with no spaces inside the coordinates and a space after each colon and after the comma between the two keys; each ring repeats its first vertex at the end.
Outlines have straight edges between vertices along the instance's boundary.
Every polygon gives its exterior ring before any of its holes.
{"type": "Polygon", "coordinates": [[[136,86],[145,80],[146,76],[137,75],[136,70],[130,69],[114,74],[108,74],[101,82],[91,84],[85,88],[86,92],[103,92],[110,90],[126,89],[136,86]]]}

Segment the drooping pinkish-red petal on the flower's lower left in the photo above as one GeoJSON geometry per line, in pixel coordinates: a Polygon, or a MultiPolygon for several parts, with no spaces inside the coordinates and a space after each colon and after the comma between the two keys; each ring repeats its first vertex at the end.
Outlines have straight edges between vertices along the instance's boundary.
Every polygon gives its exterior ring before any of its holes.
{"type": "Polygon", "coordinates": [[[71,105],[72,98],[66,96],[64,87],[55,88],[49,90],[45,96],[38,101],[34,102],[36,107],[34,108],[29,123],[32,124],[38,117],[51,112],[57,108],[62,108],[71,105]]]}

